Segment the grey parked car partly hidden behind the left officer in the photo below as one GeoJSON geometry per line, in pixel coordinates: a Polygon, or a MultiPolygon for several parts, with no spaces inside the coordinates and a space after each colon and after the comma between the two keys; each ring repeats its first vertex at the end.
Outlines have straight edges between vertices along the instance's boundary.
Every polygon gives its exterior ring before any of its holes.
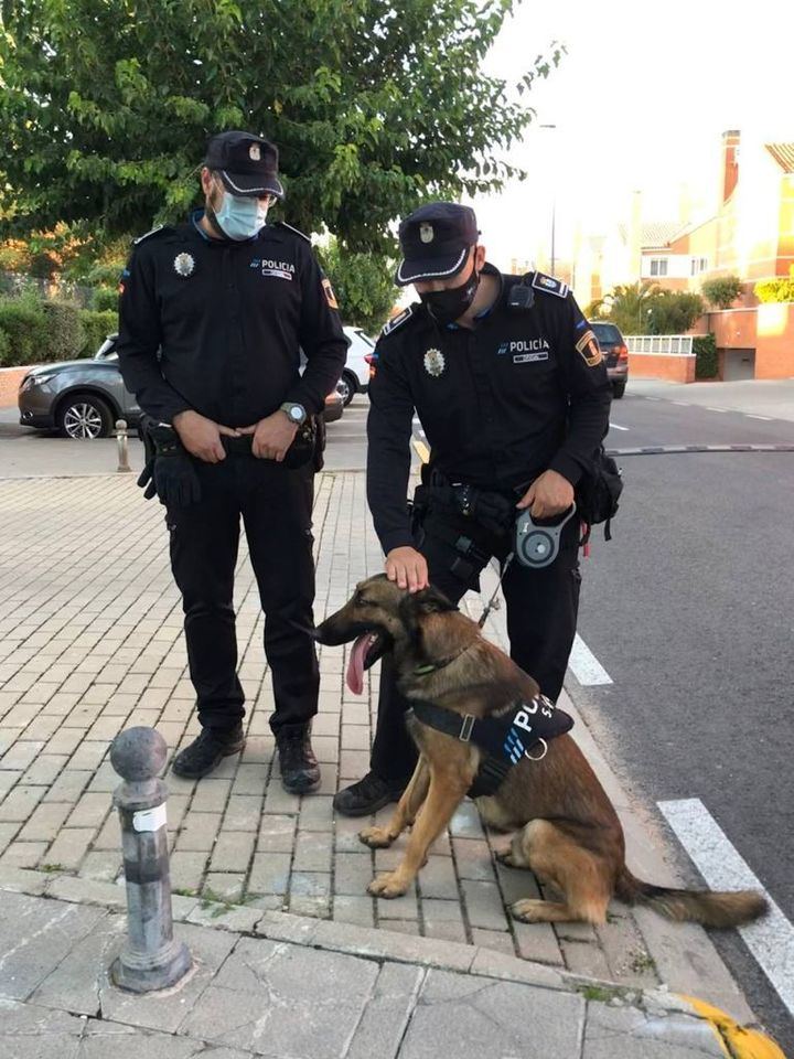
{"type": "MultiPolygon", "coordinates": [[[[66,438],[107,438],[117,419],[136,427],[141,410],[126,388],[118,368],[117,334],[109,334],[89,360],[42,364],[20,383],[20,422],[43,430],[57,429],[66,438]]],[[[325,398],[324,418],[342,418],[341,384],[325,398]]]]}

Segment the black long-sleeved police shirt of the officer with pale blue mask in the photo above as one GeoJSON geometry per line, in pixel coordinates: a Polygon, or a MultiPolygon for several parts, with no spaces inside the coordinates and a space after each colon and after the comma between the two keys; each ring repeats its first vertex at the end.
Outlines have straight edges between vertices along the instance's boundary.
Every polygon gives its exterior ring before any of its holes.
{"type": "Polygon", "coordinates": [[[200,215],[139,239],[125,269],[118,351],[127,388],[163,422],[192,408],[245,427],[287,400],[319,413],[347,342],[308,238],[276,224],[245,242],[211,239],[200,215]]]}

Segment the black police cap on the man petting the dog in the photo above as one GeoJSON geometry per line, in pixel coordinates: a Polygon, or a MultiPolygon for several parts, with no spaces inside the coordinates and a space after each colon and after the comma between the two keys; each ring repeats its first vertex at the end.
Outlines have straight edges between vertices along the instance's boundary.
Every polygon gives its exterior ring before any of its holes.
{"type": "Polygon", "coordinates": [[[409,214],[399,226],[404,260],[395,274],[398,287],[418,279],[450,279],[464,267],[480,236],[470,206],[431,202],[409,214]]]}

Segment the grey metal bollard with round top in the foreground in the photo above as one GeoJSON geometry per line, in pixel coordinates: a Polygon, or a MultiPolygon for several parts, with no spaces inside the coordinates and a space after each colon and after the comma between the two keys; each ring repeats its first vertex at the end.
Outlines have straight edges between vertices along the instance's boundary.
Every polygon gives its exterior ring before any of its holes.
{"type": "Polygon", "coordinates": [[[116,788],[127,881],[127,942],[110,970],[116,985],[149,993],[174,985],[191,966],[187,946],[173,937],[165,799],[158,773],[165,740],[153,728],[128,728],[110,747],[114,769],[126,781],[116,788]]]}

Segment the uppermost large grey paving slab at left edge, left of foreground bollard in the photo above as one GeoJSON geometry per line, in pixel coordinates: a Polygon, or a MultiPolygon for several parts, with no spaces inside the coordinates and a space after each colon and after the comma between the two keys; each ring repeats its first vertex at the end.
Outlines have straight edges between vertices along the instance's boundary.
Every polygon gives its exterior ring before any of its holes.
{"type": "Polygon", "coordinates": [[[104,909],[3,892],[0,917],[0,996],[24,1001],[73,945],[94,931],[104,909]]]}

